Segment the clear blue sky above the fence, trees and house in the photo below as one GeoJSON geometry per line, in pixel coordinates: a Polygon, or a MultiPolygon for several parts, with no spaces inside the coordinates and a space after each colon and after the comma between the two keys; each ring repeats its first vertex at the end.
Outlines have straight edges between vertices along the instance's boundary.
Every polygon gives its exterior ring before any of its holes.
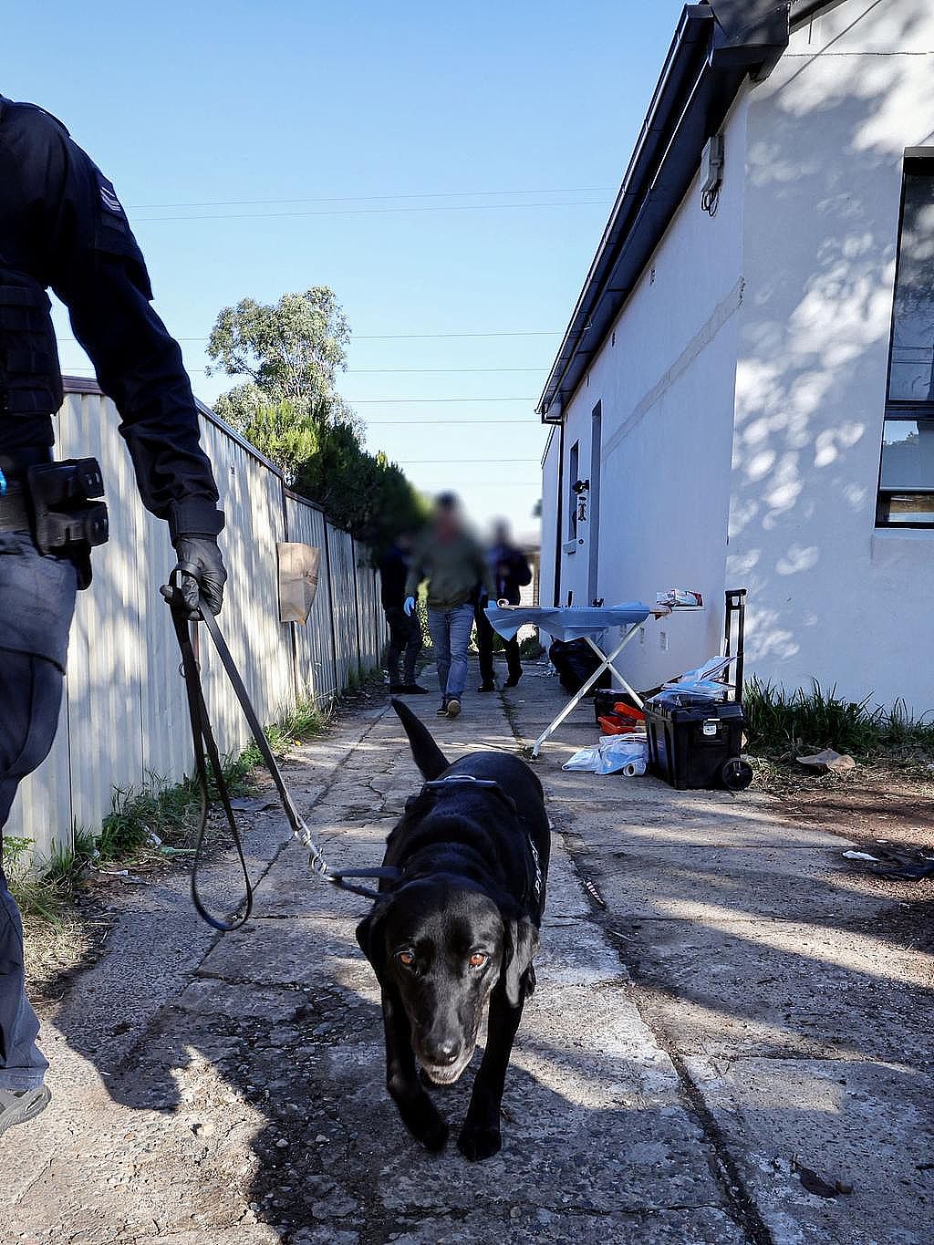
{"type": "Polygon", "coordinates": [[[196,392],[233,383],[203,371],[220,308],[330,285],[370,448],[531,534],[534,403],[681,5],[41,11],[5,15],[0,91],[113,181],[196,392]]]}

